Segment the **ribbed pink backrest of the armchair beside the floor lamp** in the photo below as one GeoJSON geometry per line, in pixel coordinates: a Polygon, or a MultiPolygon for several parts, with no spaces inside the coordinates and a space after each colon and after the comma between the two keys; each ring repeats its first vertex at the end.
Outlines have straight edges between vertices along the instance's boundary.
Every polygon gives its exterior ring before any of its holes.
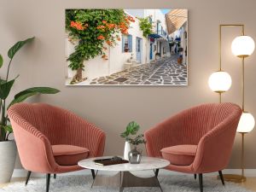
{"type": "Polygon", "coordinates": [[[240,116],[241,108],[234,103],[209,103],[183,110],[145,131],[147,153],[149,156],[161,157],[162,148],[181,144],[197,145],[202,137],[218,129],[218,125],[228,119],[236,124],[224,125],[220,129],[228,128],[226,132],[230,141],[234,141],[240,116]]]}

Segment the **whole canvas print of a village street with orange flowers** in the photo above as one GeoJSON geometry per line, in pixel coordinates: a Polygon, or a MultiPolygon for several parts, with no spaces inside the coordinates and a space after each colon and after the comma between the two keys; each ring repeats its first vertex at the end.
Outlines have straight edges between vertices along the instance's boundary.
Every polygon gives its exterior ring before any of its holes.
{"type": "Polygon", "coordinates": [[[187,85],[187,9],[66,9],[67,85],[187,85]]]}

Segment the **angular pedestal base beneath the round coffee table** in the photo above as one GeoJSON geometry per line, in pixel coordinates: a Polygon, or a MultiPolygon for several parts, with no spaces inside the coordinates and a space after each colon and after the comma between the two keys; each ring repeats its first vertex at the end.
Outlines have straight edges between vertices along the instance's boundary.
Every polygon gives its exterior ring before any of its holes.
{"type": "Polygon", "coordinates": [[[124,188],[130,187],[158,187],[163,192],[157,176],[154,177],[137,177],[131,172],[119,172],[114,176],[99,176],[96,177],[91,184],[93,186],[109,186],[117,187],[122,192],[124,188]]]}

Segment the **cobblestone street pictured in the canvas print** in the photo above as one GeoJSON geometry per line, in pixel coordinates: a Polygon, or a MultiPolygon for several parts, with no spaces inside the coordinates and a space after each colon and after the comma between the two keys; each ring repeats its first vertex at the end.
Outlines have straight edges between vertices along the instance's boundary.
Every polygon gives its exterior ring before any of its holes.
{"type": "Polygon", "coordinates": [[[119,73],[93,79],[90,84],[188,84],[187,67],[177,64],[177,56],[160,58],[159,60],[131,67],[119,73]]]}

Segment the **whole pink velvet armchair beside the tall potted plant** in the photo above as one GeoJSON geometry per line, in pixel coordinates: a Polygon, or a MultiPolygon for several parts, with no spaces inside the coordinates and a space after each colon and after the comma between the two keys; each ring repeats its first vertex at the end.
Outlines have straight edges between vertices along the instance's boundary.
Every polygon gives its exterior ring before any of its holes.
{"type": "Polygon", "coordinates": [[[105,133],[65,109],[19,103],[8,115],[21,164],[28,171],[26,184],[31,172],[46,173],[48,192],[50,174],[79,171],[79,160],[103,154],[105,133]]]}

